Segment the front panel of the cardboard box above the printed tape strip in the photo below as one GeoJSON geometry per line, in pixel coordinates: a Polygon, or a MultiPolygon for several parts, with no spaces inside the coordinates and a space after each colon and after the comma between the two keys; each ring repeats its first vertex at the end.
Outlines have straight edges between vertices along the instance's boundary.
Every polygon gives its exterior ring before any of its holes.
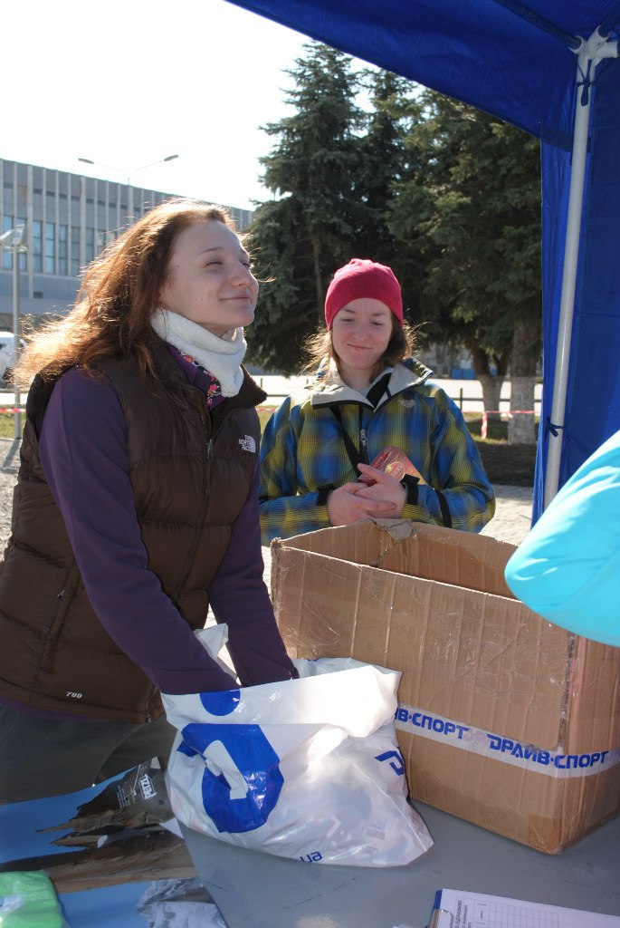
{"type": "Polygon", "coordinates": [[[273,555],[273,604],[292,656],[353,656],[400,670],[401,702],[558,745],[567,632],[515,599],[296,548],[273,555]]]}

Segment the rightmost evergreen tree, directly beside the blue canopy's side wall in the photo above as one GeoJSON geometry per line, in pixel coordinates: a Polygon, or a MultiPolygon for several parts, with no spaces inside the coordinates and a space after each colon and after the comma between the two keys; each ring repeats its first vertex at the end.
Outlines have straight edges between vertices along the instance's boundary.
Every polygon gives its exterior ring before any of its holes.
{"type": "MultiPolygon", "coordinates": [[[[422,314],[437,341],[469,349],[485,408],[499,408],[510,365],[512,379],[527,372],[518,402],[533,409],[541,334],[538,140],[434,91],[419,104],[409,143],[419,171],[400,186],[392,227],[400,240],[424,239],[422,314]]],[[[533,435],[533,417],[529,425],[533,435]]]]}

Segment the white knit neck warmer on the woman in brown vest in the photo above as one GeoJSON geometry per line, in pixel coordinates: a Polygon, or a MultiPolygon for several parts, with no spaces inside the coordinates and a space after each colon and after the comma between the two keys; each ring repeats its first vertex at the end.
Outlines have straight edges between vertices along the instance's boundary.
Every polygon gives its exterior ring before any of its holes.
{"type": "Polygon", "coordinates": [[[220,381],[222,396],[236,396],[243,383],[240,367],[247,342],[243,329],[229,329],[221,336],[203,329],[197,322],[171,313],[161,306],[151,316],[151,325],[164,342],[170,342],[220,381]]]}

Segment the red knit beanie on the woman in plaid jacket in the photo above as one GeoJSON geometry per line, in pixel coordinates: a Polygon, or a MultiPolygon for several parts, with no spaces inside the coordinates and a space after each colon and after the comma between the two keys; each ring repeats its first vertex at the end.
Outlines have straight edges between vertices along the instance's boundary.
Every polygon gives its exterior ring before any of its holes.
{"type": "Polygon", "coordinates": [[[391,268],[364,258],[352,258],[335,272],[325,297],[325,322],[332,328],[335,314],[362,297],[386,303],[402,325],[402,294],[391,268]]]}

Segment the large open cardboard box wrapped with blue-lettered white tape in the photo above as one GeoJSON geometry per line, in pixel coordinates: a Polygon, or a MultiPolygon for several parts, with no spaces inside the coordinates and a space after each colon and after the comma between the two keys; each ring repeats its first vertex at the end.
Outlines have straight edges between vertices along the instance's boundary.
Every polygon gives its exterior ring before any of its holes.
{"type": "Polygon", "coordinates": [[[513,550],[358,522],[274,540],[272,599],[292,657],[402,672],[411,798],[554,854],[620,813],[620,649],[514,599],[513,550]]]}

